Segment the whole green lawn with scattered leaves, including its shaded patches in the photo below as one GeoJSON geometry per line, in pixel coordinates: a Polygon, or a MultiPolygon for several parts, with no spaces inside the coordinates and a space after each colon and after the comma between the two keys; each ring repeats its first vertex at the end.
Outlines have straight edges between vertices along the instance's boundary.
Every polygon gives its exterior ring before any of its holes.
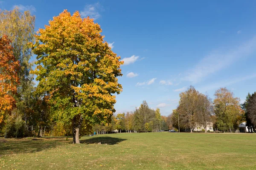
{"type": "Polygon", "coordinates": [[[256,134],[122,133],[84,136],[82,144],[65,139],[0,139],[0,169],[256,169],[256,134]]]}

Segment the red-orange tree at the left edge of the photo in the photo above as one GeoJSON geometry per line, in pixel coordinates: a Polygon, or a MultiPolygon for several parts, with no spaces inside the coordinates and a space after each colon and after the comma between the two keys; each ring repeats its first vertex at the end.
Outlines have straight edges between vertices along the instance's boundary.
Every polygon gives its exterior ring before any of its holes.
{"type": "Polygon", "coordinates": [[[15,107],[17,85],[19,84],[18,71],[20,64],[13,55],[11,41],[6,35],[0,37],[0,122],[6,113],[15,107]]]}

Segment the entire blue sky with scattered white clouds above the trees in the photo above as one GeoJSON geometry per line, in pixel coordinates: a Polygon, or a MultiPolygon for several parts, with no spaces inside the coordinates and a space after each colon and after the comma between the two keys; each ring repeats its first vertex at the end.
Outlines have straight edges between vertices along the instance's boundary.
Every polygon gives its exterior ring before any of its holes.
{"type": "Polygon", "coordinates": [[[241,102],[256,91],[254,0],[0,0],[0,8],[30,10],[35,31],[67,9],[90,16],[124,61],[116,113],[145,100],[168,116],[193,85],[214,99],[226,87],[241,102]]]}

